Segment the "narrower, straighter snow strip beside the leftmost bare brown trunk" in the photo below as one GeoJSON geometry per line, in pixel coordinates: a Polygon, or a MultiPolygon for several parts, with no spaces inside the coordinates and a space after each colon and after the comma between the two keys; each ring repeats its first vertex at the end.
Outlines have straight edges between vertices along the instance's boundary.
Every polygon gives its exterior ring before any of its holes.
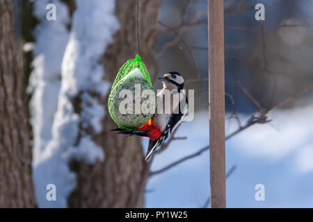
{"type": "MultiPolygon", "coordinates": [[[[54,181],[47,173],[49,165],[43,162],[47,161],[47,153],[51,152],[47,149],[47,143],[52,138],[51,128],[61,87],[61,62],[69,37],[67,24],[70,17],[65,3],[58,0],[37,0],[33,6],[33,14],[40,22],[34,31],[33,71],[28,87],[32,94],[30,110],[33,128],[33,179],[38,205],[48,207],[49,203],[54,201],[47,201],[46,187],[54,181]],[[46,18],[48,3],[56,5],[56,21],[48,21],[46,18]]],[[[28,48],[27,46],[31,44],[25,44],[24,49],[28,48]]]]}

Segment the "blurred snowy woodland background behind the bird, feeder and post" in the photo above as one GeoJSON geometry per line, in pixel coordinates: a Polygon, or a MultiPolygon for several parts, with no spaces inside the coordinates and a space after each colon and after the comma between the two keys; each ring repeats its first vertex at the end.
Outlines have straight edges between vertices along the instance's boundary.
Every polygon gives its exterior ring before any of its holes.
{"type": "MultiPolygon", "coordinates": [[[[227,207],[313,207],[313,1],[224,5],[227,207]]],[[[195,89],[195,119],[150,162],[147,139],[111,133],[107,111],[118,69],[138,53],[136,7],[0,1],[1,207],[209,207],[207,1],[139,0],[154,89],[168,71],[195,89]]]]}

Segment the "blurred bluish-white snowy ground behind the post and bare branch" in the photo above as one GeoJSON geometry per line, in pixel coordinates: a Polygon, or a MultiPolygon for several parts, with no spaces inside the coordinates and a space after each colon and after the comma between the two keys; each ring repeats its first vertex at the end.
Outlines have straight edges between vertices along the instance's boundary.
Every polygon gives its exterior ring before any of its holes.
{"type": "MultiPolygon", "coordinates": [[[[279,130],[258,124],[227,140],[226,170],[236,165],[227,179],[227,207],[313,207],[312,113],[313,105],[276,110],[269,117],[279,130]],[[264,201],[255,200],[257,184],[265,187],[264,201]]],[[[227,131],[234,128],[235,121],[227,131]]],[[[152,170],[206,146],[208,133],[208,113],[196,113],[177,131],[188,139],[172,142],[152,170]]],[[[209,195],[209,152],[150,178],[146,189],[146,207],[202,207],[209,195]]]]}

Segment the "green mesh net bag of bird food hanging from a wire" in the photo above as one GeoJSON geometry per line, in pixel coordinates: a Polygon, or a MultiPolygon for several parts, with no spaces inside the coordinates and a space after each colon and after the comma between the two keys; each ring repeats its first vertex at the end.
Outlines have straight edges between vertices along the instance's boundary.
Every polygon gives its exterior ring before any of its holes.
{"type": "MultiPolygon", "coordinates": [[[[153,116],[153,113],[136,113],[136,99],[137,101],[140,101],[140,105],[142,105],[145,100],[149,98],[149,96],[145,97],[141,96],[140,94],[135,94],[135,89],[138,89],[138,87],[140,87],[141,93],[145,89],[152,89],[152,91],[154,90],[149,72],[147,71],[145,64],[143,64],[141,61],[141,57],[139,55],[137,55],[135,59],[131,59],[125,62],[125,64],[120,68],[118,75],[113,82],[109,95],[109,112],[113,121],[115,121],[115,123],[118,124],[120,128],[127,130],[137,129],[143,126],[143,124],[147,123],[147,121],[149,121],[149,119],[153,116]],[[123,113],[120,110],[120,105],[124,107],[123,101],[127,98],[127,96],[121,96],[121,94],[123,94],[123,89],[128,89],[132,93],[133,104],[132,107],[128,107],[130,110],[132,110],[132,113],[123,113]]],[[[138,103],[136,104],[138,105],[138,103]]],[[[155,107],[152,109],[155,111],[155,107]]]]}

